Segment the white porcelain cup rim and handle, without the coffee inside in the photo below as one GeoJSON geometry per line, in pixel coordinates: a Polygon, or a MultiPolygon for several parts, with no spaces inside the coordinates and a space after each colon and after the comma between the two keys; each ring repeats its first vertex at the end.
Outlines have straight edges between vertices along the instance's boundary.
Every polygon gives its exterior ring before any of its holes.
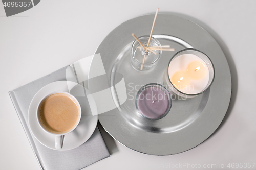
{"type": "Polygon", "coordinates": [[[61,149],[62,146],[63,146],[64,136],[67,135],[67,134],[69,134],[70,132],[72,132],[73,130],[76,129],[77,125],[78,125],[79,122],[80,122],[81,114],[82,114],[82,112],[81,112],[81,106],[80,106],[79,102],[77,101],[77,99],[76,99],[73,95],[71,95],[71,94],[68,93],[68,92],[64,92],[64,91],[55,91],[55,92],[52,92],[52,93],[50,93],[50,94],[44,96],[44,98],[41,99],[41,101],[39,102],[39,104],[38,104],[38,106],[37,106],[37,113],[36,113],[36,116],[37,116],[37,121],[38,121],[38,124],[40,125],[40,127],[41,127],[45,132],[47,132],[47,133],[52,134],[52,135],[55,136],[55,148],[56,148],[56,149],[61,149]],[[65,133],[53,133],[53,132],[50,132],[49,130],[47,130],[47,129],[42,125],[42,123],[41,123],[41,121],[40,121],[40,116],[39,116],[39,114],[40,114],[40,107],[41,107],[41,104],[42,104],[49,96],[51,96],[51,95],[53,95],[53,94],[57,94],[57,93],[68,95],[69,98],[72,99],[72,100],[76,103],[76,106],[78,107],[78,110],[79,110],[79,111],[78,111],[78,117],[77,117],[77,120],[76,120],[75,125],[73,126],[72,129],[70,129],[68,132],[65,132],[65,133]]]}

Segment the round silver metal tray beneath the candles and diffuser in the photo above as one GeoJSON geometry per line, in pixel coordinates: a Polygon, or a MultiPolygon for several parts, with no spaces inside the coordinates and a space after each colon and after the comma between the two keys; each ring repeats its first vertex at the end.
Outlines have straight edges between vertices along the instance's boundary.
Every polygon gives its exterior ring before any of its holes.
{"type": "MultiPolygon", "coordinates": [[[[134,41],[131,34],[149,35],[153,18],[154,15],[144,15],[122,23],[95,52],[101,55],[109,85],[115,80],[111,72],[120,73],[127,91],[127,100],[120,108],[98,118],[103,128],[126,147],[145,154],[172,155],[196,147],[218,128],[230,102],[231,75],[220,46],[209,33],[189,20],[168,14],[158,15],[153,36],[161,45],[171,45],[175,52],[163,51],[154,70],[135,70],[130,63],[134,41]],[[179,50],[191,47],[207,54],[215,66],[215,80],[210,89],[193,99],[173,100],[172,108],[162,119],[148,120],[140,116],[135,107],[139,88],[147,83],[162,84],[170,58],[179,50]]],[[[89,82],[89,90],[92,87],[89,82]]]]}

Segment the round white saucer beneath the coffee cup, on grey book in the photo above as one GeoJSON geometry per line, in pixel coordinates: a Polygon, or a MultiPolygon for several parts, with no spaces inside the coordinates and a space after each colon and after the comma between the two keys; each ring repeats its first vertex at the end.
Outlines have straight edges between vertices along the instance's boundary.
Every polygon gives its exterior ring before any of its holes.
{"type": "MultiPolygon", "coordinates": [[[[78,84],[74,82],[69,82],[69,87],[72,85],[72,87],[77,86],[78,84]]],[[[37,122],[36,118],[36,110],[37,105],[39,104],[40,100],[47,94],[54,92],[54,91],[66,91],[68,90],[67,81],[57,81],[50,83],[46,85],[45,87],[42,87],[34,96],[32,99],[30,105],[29,105],[29,112],[28,112],[28,121],[29,121],[29,127],[35,138],[43,145],[45,145],[48,148],[51,148],[53,150],[71,150],[74,148],[79,147],[81,144],[86,142],[91,135],[93,134],[97,122],[98,122],[98,115],[92,116],[90,106],[92,107],[95,104],[95,108],[97,108],[95,101],[90,101],[90,105],[88,102],[81,102],[79,101],[81,105],[82,110],[82,116],[80,123],[76,127],[76,129],[65,135],[63,147],[61,149],[55,148],[55,136],[48,134],[44,130],[41,129],[37,122]]],[[[75,95],[74,95],[75,96],[75,95]]],[[[95,109],[94,108],[94,109],[95,109]]]]}

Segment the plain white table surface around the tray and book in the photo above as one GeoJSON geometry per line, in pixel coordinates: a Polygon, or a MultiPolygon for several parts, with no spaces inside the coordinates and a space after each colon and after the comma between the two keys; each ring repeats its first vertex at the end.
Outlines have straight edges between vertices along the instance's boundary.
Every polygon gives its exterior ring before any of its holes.
{"type": "Polygon", "coordinates": [[[170,156],[133,151],[105,132],[112,156],[86,169],[232,169],[228,163],[256,163],[256,1],[45,0],[11,17],[0,5],[0,169],[40,169],[8,91],[93,55],[114,28],[157,7],[198,23],[220,44],[232,74],[228,112],[205,142],[170,156]]]}

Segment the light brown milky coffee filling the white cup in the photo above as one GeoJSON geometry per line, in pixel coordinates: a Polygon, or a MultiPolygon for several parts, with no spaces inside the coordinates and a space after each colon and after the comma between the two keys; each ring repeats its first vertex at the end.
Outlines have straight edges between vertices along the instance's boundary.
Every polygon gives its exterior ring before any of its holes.
{"type": "Polygon", "coordinates": [[[50,95],[39,109],[42,126],[52,133],[66,133],[72,130],[79,120],[79,106],[68,94],[50,95]]]}

